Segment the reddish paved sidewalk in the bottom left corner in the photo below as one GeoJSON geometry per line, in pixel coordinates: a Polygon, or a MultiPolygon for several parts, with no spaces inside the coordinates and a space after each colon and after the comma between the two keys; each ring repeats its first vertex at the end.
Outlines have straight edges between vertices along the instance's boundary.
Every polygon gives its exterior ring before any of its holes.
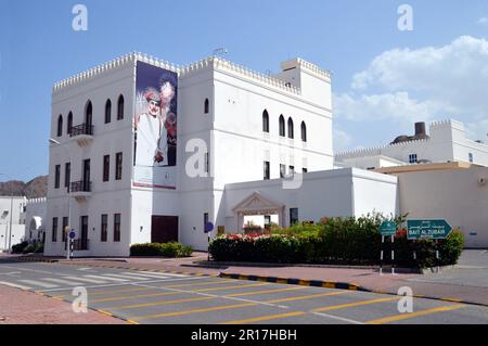
{"type": "Polygon", "coordinates": [[[127,322],[92,310],[88,310],[87,313],[75,313],[68,303],[0,285],[0,325],[2,324],[127,324],[127,322]]]}

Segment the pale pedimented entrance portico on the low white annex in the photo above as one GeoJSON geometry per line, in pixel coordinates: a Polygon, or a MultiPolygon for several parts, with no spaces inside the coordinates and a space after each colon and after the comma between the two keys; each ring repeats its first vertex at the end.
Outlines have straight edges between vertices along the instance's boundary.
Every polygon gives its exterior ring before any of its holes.
{"type": "Polygon", "coordinates": [[[258,191],[239,203],[232,212],[237,219],[237,232],[242,233],[244,217],[278,215],[278,226],[284,227],[285,205],[262,196],[258,191]]]}

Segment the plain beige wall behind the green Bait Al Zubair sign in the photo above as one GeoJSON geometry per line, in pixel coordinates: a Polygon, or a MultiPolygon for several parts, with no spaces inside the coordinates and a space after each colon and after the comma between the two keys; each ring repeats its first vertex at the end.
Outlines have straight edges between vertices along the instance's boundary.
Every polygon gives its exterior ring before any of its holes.
{"type": "Polygon", "coordinates": [[[488,247],[488,168],[399,174],[400,209],[411,219],[446,219],[466,247],[488,247]]]}

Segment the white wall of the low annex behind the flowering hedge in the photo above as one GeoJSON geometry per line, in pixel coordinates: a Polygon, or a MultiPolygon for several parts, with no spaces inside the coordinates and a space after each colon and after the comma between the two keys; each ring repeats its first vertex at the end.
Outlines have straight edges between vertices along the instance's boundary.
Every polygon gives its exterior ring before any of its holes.
{"type": "Polygon", "coordinates": [[[300,221],[318,222],[322,217],[361,216],[377,212],[397,214],[397,178],[360,169],[345,168],[303,176],[296,190],[285,190],[281,179],[235,183],[226,187],[226,229],[235,231],[232,208],[258,191],[271,201],[285,204],[285,227],[290,208],[298,208],[300,221]]]}

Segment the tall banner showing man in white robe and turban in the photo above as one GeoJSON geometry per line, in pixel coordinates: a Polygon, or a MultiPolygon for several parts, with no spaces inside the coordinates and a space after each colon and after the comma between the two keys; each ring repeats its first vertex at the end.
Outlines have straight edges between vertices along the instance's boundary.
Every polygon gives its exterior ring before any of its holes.
{"type": "Polygon", "coordinates": [[[178,75],[138,62],[133,184],[176,189],[178,75]]]}

